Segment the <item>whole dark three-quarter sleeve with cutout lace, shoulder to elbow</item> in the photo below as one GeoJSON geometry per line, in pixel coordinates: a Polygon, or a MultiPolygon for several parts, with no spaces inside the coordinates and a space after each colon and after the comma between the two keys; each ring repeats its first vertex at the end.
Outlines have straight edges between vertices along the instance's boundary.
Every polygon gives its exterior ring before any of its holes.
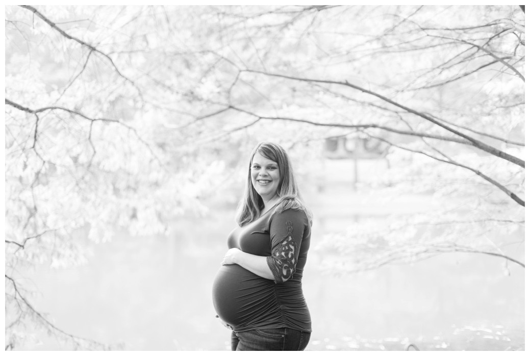
{"type": "Polygon", "coordinates": [[[267,264],[276,283],[293,278],[306,224],[307,218],[302,210],[288,209],[272,216],[271,255],[267,256],[267,264]]]}

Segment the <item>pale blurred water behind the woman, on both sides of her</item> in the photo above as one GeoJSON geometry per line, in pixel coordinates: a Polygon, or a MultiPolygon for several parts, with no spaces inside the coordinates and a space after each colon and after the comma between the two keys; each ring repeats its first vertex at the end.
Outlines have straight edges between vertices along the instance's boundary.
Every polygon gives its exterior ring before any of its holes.
{"type": "MultiPolygon", "coordinates": [[[[307,196],[315,215],[312,245],[352,221],[378,217],[385,224],[388,212],[436,206],[427,195],[403,195],[384,206],[375,195],[360,204],[363,194],[338,185],[307,196]]],[[[211,284],[235,226],[235,205],[209,208],[204,218],[173,221],[169,236],[117,232],[93,246],[85,265],[27,271],[38,291],[34,305],[63,330],[125,350],[228,350],[230,332],[214,317],[211,284]]],[[[76,238],[93,245],[86,231],[76,238]]],[[[524,260],[524,249],[514,245],[511,255],[524,260]]],[[[320,263],[333,258],[310,250],[304,271],[313,319],[307,350],[404,350],[409,343],[421,350],[524,349],[524,269],[518,265],[451,253],[361,273],[324,273],[320,263]]],[[[69,348],[36,336],[41,341],[26,350],[69,348]]]]}

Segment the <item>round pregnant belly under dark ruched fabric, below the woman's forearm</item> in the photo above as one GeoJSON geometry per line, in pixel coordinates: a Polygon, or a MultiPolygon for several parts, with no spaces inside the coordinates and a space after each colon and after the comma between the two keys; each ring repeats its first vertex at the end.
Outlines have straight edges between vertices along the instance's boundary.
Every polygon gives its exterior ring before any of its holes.
{"type": "Polygon", "coordinates": [[[277,307],[274,286],[274,281],[259,277],[238,264],[225,264],[214,279],[215,311],[234,329],[244,327],[277,307]]]}

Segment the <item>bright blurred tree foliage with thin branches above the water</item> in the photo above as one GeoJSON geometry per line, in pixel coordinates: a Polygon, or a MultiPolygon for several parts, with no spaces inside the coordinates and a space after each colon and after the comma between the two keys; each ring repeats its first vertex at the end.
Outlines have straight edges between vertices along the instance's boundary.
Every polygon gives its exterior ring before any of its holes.
{"type": "Polygon", "coordinates": [[[264,139],[289,150],[305,186],[322,184],[323,139],[383,141],[391,169],[368,188],[454,202],[328,236],[325,269],[454,251],[522,263],[503,239],[524,227],[519,6],[23,5],[5,17],[6,349],[28,323],[107,348],[33,308],[20,268],[84,263],[76,236],[167,234],[207,198],[235,204],[236,172],[264,139]]]}

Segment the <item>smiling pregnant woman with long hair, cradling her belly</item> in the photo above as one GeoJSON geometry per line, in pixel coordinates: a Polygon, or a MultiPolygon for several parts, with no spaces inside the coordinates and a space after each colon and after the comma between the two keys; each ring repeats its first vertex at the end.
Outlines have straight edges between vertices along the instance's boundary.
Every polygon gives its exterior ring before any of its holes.
{"type": "Polygon", "coordinates": [[[311,316],[302,273],[312,220],[281,146],[265,142],[252,150],[236,219],[213,286],[215,310],[232,329],[232,350],[304,350],[311,316]]]}

